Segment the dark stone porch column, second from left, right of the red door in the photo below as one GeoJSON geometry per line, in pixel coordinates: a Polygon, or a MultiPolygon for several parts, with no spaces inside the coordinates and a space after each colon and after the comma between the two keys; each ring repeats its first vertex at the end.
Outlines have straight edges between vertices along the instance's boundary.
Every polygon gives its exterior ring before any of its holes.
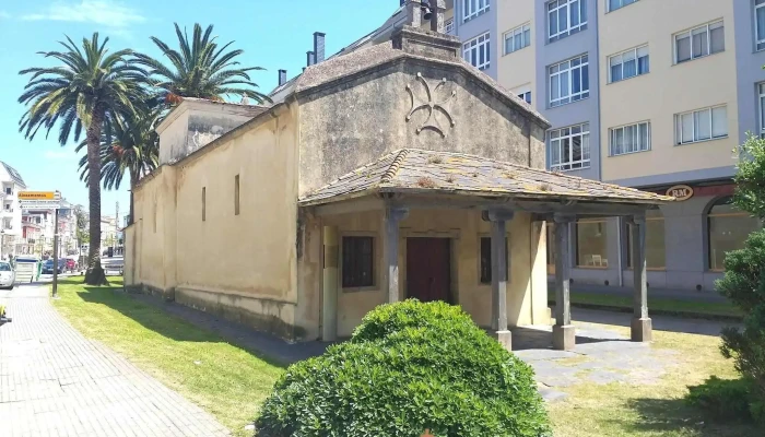
{"type": "Polygon", "coordinates": [[[513,334],[507,329],[507,231],[510,211],[490,211],[492,224],[492,335],[508,351],[513,334]]]}

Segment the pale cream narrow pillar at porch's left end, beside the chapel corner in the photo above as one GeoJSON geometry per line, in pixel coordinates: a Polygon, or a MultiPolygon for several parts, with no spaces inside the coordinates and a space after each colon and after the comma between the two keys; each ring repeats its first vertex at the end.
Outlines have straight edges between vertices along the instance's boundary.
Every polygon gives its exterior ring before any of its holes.
{"type": "Polygon", "coordinates": [[[338,339],[338,264],[340,262],[338,228],[336,226],[325,226],[322,239],[321,340],[336,341],[338,339]]]}

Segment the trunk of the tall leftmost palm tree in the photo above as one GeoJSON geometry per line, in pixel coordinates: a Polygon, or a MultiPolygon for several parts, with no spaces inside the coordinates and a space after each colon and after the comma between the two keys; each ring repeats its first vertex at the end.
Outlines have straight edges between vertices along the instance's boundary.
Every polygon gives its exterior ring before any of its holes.
{"type": "Polygon", "coordinates": [[[91,126],[85,132],[87,141],[87,200],[91,216],[91,244],[87,250],[87,272],[85,284],[106,284],[106,275],[101,265],[101,129],[104,123],[104,110],[96,109],[91,126]]]}

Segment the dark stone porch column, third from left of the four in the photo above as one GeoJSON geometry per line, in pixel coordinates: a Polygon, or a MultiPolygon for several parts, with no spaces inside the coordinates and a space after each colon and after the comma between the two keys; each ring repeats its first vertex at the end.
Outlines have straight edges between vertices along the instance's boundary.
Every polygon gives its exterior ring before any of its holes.
{"type": "Polygon", "coordinates": [[[569,351],[576,345],[576,330],[572,324],[570,307],[570,224],[573,215],[555,214],[555,326],[553,349],[569,351]]]}

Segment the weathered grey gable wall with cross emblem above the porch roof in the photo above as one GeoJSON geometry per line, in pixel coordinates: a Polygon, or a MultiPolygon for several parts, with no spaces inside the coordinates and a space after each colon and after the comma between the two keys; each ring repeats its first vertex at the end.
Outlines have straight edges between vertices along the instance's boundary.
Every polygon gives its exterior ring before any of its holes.
{"type": "Polygon", "coordinates": [[[544,165],[543,127],[456,67],[407,60],[372,70],[333,86],[331,92],[302,96],[299,102],[301,193],[402,147],[463,152],[540,168],[544,165]],[[456,93],[444,105],[454,127],[442,111],[434,111],[446,138],[433,129],[416,133],[427,119],[427,108],[407,121],[412,108],[407,85],[416,102],[427,102],[417,73],[427,81],[434,101],[446,101],[452,91],[456,93]],[[442,79],[446,83],[436,90],[442,79]]]}

